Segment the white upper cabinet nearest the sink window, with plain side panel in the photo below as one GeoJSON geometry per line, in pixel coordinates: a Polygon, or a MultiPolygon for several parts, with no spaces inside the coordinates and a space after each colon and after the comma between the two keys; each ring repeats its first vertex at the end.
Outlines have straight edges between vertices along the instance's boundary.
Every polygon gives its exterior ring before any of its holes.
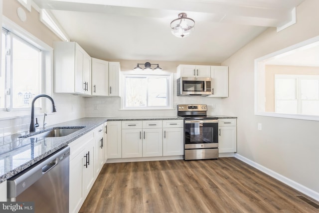
{"type": "Polygon", "coordinates": [[[76,42],[54,42],[54,92],[91,95],[91,56],[76,42]]]}

